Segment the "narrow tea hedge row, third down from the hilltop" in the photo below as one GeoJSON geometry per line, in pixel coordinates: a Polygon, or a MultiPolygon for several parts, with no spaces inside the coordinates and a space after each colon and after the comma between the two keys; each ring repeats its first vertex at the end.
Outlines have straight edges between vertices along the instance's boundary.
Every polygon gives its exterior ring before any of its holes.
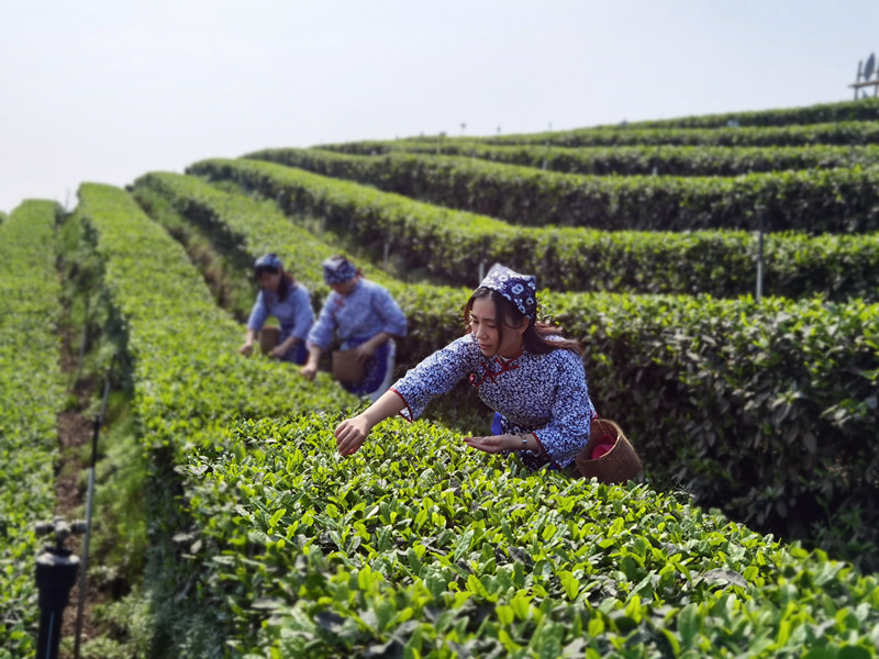
{"type": "MultiPolygon", "coordinates": [[[[561,174],[587,176],[742,176],[788,169],[869,167],[879,163],[879,145],[805,146],[585,146],[539,144],[498,146],[483,142],[365,141],[320,148],[359,156],[394,152],[463,156],[561,174]]],[[[275,149],[277,150],[277,149],[275,149]]],[[[269,152],[271,153],[271,152],[269,152]]]]}

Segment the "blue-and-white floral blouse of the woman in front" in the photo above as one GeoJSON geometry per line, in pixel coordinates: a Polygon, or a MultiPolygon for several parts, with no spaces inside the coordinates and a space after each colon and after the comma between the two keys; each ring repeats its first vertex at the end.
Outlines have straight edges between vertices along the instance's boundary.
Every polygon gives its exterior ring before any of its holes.
{"type": "MultiPolygon", "coordinates": [[[[485,357],[472,335],[463,336],[407,371],[391,386],[414,421],[435,395],[469,378],[479,398],[500,413],[501,433],[534,433],[545,455],[518,451],[533,469],[547,461],[566,468],[589,442],[596,415],[580,356],[571,350],[545,355],[523,351],[510,360],[485,357]]],[[[475,431],[474,434],[477,434],[475,431]]]]}

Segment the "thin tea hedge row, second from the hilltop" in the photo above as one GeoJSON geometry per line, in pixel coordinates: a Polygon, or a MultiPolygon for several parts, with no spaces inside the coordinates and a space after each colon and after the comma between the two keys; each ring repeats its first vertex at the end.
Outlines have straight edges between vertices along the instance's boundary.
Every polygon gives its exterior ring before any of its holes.
{"type": "MultiPolygon", "coordinates": [[[[457,139],[457,138],[453,138],[457,139]]],[[[468,137],[467,139],[474,139],[468,137]]],[[[805,146],[808,144],[879,144],[879,121],[827,122],[806,125],[723,126],[714,129],[575,129],[481,138],[488,144],[553,146],[805,146]]]]}

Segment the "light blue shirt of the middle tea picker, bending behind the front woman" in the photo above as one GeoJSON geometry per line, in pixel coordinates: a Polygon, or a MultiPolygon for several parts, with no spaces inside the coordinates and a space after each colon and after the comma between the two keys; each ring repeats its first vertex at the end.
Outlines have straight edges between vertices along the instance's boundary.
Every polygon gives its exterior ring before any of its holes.
{"type": "Polygon", "coordinates": [[[355,338],[371,338],[379,332],[405,336],[405,315],[385,288],[360,279],[349,294],[332,291],[326,297],[308,340],[326,350],[334,334],[338,333],[341,349],[346,350],[354,347],[351,342],[355,338]]]}

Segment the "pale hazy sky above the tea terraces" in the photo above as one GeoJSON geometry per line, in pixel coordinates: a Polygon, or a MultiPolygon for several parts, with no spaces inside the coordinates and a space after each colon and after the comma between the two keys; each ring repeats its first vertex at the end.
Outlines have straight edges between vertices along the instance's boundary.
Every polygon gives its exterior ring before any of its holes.
{"type": "Polygon", "coordinates": [[[0,0],[0,211],[265,147],[849,100],[877,25],[877,0],[0,0]]]}

